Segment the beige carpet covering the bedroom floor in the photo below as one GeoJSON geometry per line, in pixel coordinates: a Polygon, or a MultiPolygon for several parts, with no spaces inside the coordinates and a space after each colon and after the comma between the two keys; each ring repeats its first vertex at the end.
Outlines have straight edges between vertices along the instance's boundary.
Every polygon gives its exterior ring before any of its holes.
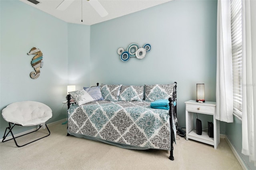
{"type": "MultiPolygon", "coordinates": [[[[48,126],[50,136],[21,148],[13,140],[0,142],[1,170],[241,170],[225,139],[213,146],[181,138],[174,144],[174,161],[166,150],[129,150],[102,142],[66,136],[66,125],[48,126]]],[[[38,135],[17,139],[22,144],[38,135]]]]}

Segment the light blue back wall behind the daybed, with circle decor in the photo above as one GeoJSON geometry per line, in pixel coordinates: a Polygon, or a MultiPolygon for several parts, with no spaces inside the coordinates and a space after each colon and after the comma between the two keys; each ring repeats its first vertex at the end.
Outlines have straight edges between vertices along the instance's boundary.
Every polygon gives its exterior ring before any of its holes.
{"type": "Polygon", "coordinates": [[[206,101],[216,100],[216,18],[216,0],[176,0],[92,25],[91,84],[176,81],[178,126],[185,127],[184,102],[196,98],[196,83],[205,83],[206,101]],[[131,43],[151,50],[121,61],[118,48],[131,43]]]}

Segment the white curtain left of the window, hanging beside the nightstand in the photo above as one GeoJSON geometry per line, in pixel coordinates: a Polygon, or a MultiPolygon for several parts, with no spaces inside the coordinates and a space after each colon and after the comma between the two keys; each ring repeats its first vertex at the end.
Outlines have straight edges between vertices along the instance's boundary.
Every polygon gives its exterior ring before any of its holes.
{"type": "Polygon", "coordinates": [[[216,119],[233,122],[233,80],[230,0],[218,0],[216,119]]]}

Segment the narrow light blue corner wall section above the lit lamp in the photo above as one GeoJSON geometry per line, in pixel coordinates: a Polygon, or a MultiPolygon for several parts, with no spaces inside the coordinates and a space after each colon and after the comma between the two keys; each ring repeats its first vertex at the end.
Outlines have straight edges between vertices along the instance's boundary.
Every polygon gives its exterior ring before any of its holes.
{"type": "Polygon", "coordinates": [[[90,26],[68,24],[68,84],[90,87],[90,26]]]}

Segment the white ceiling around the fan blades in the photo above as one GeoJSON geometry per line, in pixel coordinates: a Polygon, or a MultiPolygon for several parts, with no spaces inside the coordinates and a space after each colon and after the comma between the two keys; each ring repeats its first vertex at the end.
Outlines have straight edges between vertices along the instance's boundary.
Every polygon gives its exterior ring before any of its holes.
{"type": "Polygon", "coordinates": [[[70,4],[70,6],[64,11],[56,10],[63,0],[37,0],[40,2],[37,5],[29,2],[28,0],[20,1],[38,8],[39,10],[55,16],[65,22],[93,25],[163,4],[171,0],[98,0],[98,2],[100,2],[108,12],[108,15],[105,17],[101,17],[87,0],[74,0],[74,2],[72,2],[72,4],[70,4]],[[83,20],[83,22],[81,22],[81,20],[83,20]]]}

